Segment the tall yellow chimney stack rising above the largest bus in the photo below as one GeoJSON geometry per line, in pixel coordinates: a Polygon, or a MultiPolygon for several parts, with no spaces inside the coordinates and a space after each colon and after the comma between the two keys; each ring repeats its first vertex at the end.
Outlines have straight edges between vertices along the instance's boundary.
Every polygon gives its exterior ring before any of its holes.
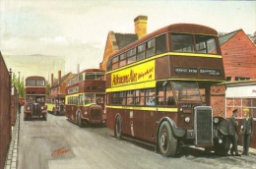
{"type": "Polygon", "coordinates": [[[147,34],[147,16],[138,16],[134,19],[135,33],[138,38],[141,38],[147,34]]]}

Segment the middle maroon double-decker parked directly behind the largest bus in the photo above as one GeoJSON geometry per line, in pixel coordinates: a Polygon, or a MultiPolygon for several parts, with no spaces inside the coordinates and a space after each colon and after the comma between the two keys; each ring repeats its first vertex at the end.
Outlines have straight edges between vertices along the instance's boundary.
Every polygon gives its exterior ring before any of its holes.
{"type": "Polygon", "coordinates": [[[105,123],[105,71],[87,69],[66,84],[66,117],[79,127],[105,123]]]}

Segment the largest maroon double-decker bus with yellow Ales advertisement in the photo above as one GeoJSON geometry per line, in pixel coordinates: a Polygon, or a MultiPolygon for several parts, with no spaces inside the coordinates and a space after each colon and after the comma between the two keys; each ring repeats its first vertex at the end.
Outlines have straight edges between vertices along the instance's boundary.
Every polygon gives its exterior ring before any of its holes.
{"type": "Polygon", "coordinates": [[[214,28],[160,28],[113,53],[106,67],[106,127],[115,137],[153,143],[163,156],[181,145],[227,153],[228,123],[210,106],[211,85],[224,82],[214,28]]]}

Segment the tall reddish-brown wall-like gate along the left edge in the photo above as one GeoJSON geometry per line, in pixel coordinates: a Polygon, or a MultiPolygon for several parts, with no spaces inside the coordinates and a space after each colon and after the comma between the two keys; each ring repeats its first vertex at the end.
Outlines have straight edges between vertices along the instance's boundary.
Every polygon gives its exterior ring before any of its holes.
{"type": "Polygon", "coordinates": [[[11,135],[11,75],[0,51],[0,168],[4,168],[11,135]]]}

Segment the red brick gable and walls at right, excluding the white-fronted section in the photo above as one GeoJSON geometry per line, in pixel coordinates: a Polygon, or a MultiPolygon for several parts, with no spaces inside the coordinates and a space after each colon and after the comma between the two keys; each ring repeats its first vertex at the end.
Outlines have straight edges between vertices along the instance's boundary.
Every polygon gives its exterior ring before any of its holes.
{"type": "Polygon", "coordinates": [[[215,115],[229,117],[231,109],[225,106],[226,88],[234,84],[251,84],[251,80],[256,80],[256,47],[242,29],[226,33],[219,39],[226,83],[212,87],[211,105],[215,115]]]}

